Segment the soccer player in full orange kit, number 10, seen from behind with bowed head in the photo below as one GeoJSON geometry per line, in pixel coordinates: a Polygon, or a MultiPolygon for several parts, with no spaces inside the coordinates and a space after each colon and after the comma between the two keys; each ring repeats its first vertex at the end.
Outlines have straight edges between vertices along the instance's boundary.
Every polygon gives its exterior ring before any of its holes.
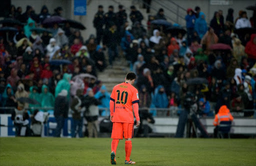
{"type": "Polygon", "coordinates": [[[138,91],[132,86],[136,78],[134,72],[128,72],[125,76],[125,82],[113,87],[110,96],[110,120],[113,122],[112,143],[111,143],[111,164],[116,164],[115,154],[118,142],[125,138],[125,164],[135,164],[130,159],[131,138],[133,137],[134,115],[136,117],[136,126],[139,126],[138,115],[138,91]]]}

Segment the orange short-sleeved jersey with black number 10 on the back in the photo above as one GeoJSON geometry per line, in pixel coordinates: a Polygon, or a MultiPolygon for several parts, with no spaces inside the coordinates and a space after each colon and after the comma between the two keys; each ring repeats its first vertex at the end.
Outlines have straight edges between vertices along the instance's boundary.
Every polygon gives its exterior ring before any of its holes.
{"type": "Polygon", "coordinates": [[[139,102],[138,91],[135,87],[125,82],[115,85],[110,100],[114,102],[112,122],[134,122],[132,104],[139,102]]]}

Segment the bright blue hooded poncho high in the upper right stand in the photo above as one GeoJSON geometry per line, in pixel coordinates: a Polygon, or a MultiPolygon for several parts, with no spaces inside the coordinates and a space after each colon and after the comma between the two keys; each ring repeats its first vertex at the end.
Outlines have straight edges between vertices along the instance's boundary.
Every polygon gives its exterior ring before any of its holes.
{"type": "Polygon", "coordinates": [[[205,14],[203,12],[200,12],[198,18],[195,20],[194,30],[198,33],[200,38],[202,38],[203,35],[207,32],[207,22],[205,21],[205,14]],[[202,15],[204,18],[201,17],[202,15]]]}

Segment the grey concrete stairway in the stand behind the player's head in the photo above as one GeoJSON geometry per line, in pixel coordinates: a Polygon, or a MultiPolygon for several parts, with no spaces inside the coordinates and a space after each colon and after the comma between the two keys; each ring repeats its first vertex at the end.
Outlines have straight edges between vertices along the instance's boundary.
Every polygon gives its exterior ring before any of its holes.
{"type": "Polygon", "coordinates": [[[112,68],[106,68],[98,73],[98,79],[106,86],[107,91],[111,92],[113,86],[124,81],[125,74],[129,71],[126,59],[122,56],[113,61],[112,68]]]}

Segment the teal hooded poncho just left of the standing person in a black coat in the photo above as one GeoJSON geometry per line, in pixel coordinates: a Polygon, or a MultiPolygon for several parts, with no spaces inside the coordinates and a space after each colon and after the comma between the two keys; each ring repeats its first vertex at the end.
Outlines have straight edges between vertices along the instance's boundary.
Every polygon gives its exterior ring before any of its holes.
{"type": "Polygon", "coordinates": [[[42,107],[53,107],[54,106],[54,97],[49,92],[49,88],[46,85],[42,85],[42,92],[39,95],[41,106],[42,107]],[[44,92],[44,88],[47,88],[47,92],[44,92]]]}

